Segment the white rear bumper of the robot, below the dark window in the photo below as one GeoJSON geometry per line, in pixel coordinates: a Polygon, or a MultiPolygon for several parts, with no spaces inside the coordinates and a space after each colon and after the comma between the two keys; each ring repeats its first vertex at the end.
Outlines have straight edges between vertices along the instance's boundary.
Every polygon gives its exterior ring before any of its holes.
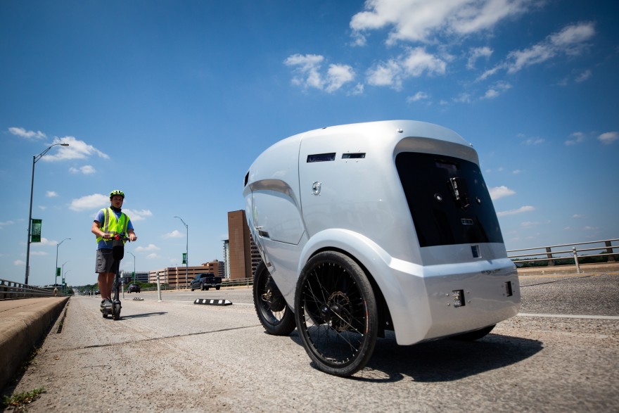
{"type": "Polygon", "coordinates": [[[400,345],[483,329],[520,310],[518,273],[509,259],[414,266],[412,272],[398,267],[390,267],[394,277],[382,291],[400,345]],[[454,291],[463,295],[460,303],[454,291]]]}

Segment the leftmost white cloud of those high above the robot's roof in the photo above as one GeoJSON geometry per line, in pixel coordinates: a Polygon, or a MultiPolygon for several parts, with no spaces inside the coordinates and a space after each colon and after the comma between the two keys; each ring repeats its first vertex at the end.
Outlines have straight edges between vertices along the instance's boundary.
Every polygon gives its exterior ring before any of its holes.
{"type": "MultiPolygon", "coordinates": [[[[345,84],[355,80],[355,70],[349,65],[329,65],[326,73],[321,74],[324,56],[315,54],[294,54],[288,56],[283,64],[292,67],[294,70],[293,84],[305,87],[324,90],[333,93],[341,89],[345,84]]],[[[355,91],[359,91],[355,87],[355,91]]]]}

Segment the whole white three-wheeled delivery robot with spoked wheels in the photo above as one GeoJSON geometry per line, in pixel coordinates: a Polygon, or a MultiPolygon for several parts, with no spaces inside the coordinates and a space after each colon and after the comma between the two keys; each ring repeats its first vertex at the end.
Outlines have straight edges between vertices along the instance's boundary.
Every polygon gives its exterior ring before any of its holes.
{"type": "Polygon", "coordinates": [[[452,130],[392,120],[268,148],[245,175],[268,333],[295,327],[317,367],[350,376],[377,337],[476,340],[521,296],[476,151],[452,130]]]}

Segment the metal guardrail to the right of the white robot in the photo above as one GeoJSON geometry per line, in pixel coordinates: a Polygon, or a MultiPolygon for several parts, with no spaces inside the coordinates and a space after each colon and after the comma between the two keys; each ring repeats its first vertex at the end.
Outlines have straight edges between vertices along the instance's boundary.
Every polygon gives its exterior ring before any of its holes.
{"type": "Polygon", "coordinates": [[[523,248],[520,250],[509,250],[507,251],[507,256],[514,263],[546,261],[549,267],[556,265],[556,262],[555,262],[556,260],[573,259],[573,264],[576,265],[576,272],[580,274],[579,260],[582,258],[607,257],[608,262],[615,262],[616,261],[615,256],[619,256],[619,253],[613,252],[613,249],[619,249],[619,246],[616,245],[617,241],[619,241],[619,239],[606,239],[602,241],[587,241],[587,242],[559,244],[555,246],[523,248]],[[613,245],[613,242],[615,243],[615,245],[613,245]],[[604,244],[604,245],[593,246],[594,244],[604,244]],[[581,246],[587,246],[587,248],[580,248],[581,246]],[[572,247],[572,248],[563,249],[566,247],[568,248],[572,247]],[[561,248],[561,249],[556,250],[553,248],[561,248]],[[510,253],[522,253],[524,251],[527,251],[527,253],[520,254],[520,255],[509,255],[510,253]],[[540,251],[540,252],[535,252],[535,251],[540,251]],[[589,251],[598,251],[598,253],[583,254],[589,251]],[[599,251],[602,251],[602,252],[599,252],[599,251]],[[580,253],[580,256],[579,256],[579,253],[580,253]],[[545,257],[532,258],[532,257],[539,257],[540,255],[545,255],[545,257]]]}

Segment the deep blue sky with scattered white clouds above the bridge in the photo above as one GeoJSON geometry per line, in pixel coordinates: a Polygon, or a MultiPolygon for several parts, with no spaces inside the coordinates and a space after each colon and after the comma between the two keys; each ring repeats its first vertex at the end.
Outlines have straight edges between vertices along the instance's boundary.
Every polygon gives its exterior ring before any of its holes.
{"type": "MultiPolygon", "coordinates": [[[[136,269],[222,259],[265,148],[411,119],[471,142],[507,249],[619,236],[615,1],[0,1],[0,278],[96,280],[125,191],[136,269]],[[58,243],[64,239],[60,247],[58,243]]],[[[125,255],[122,268],[132,270],[125,255]]]]}

